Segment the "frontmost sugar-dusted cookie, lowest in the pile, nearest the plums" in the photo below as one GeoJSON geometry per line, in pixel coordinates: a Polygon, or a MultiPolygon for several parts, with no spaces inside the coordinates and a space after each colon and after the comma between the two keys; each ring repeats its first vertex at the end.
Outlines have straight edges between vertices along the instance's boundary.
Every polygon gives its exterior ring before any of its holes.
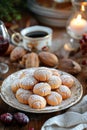
{"type": "Polygon", "coordinates": [[[46,107],[46,100],[44,97],[33,94],[29,97],[28,104],[31,108],[42,109],[46,107]]]}

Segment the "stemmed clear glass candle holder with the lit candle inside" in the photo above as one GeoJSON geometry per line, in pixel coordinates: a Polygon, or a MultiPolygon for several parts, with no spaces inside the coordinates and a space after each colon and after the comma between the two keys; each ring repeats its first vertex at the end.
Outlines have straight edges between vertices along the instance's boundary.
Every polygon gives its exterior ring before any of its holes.
{"type": "Polygon", "coordinates": [[[64,46],[68,49],[78,49],[79,40],[87,33],[87,1],[72,0],[73,11],[67,21],[66,31],[69,42],[64,46]]]}

